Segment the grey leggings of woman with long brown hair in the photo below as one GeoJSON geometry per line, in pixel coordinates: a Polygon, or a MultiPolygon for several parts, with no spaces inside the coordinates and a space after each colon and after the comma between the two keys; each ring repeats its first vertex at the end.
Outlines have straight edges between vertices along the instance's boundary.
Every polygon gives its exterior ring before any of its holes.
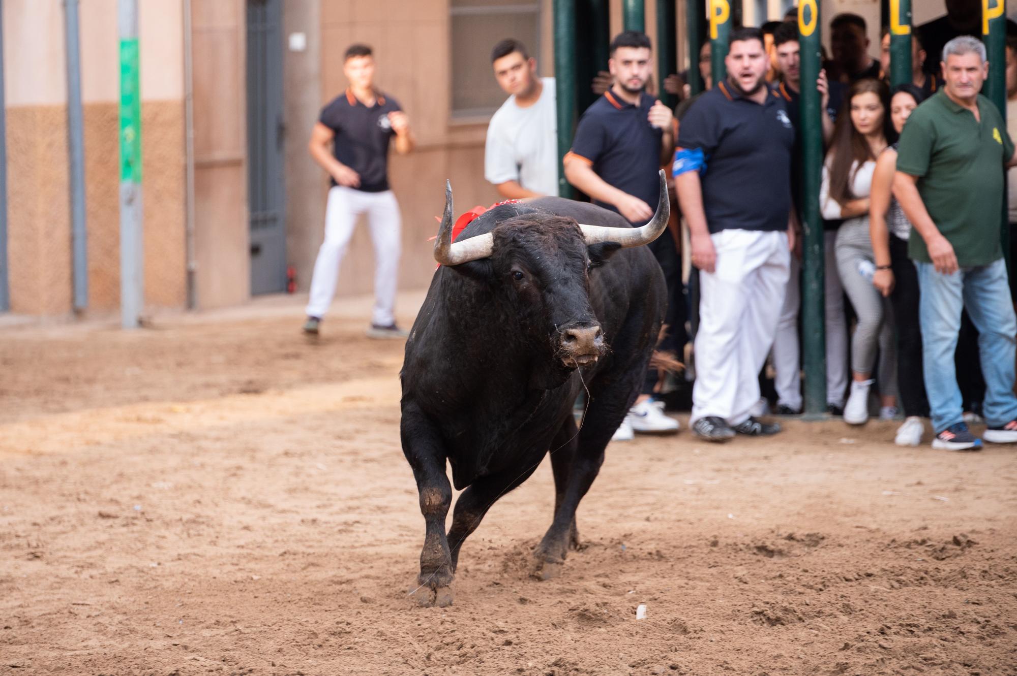
{"type": "Polygon", "coordinates": [[[851,337],[851,370],[872,374],[879,352],[879,384],[883,396],[897,396],[897,342],[894,338],[893,308],[873,282],[861,276],[858,264],[872,263],[873,244],[869,236],[869,216],[849,218],[837,230],[834,247],[837,272],[858,324],[851,337]]]}

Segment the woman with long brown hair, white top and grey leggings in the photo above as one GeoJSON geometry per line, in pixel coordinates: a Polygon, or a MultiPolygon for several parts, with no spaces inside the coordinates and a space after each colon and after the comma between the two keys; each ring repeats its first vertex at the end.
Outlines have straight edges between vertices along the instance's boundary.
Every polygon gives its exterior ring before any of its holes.
{"type": "Polygon", "coordinates": [[[897,349],[890,301],[872,284],[875,255],[869,235],[869,206],[876,159],[894,137],[885,83],[861,79],[851,85],[845,111],[837,116],[823,166],[820,208],[824,218],[843,218],[834,253],[837,272],[858,322],[851,341],[851,391],[844,421],[869,420],[869,391],[879,353],[880,417],[897,414],[897,349]]]}

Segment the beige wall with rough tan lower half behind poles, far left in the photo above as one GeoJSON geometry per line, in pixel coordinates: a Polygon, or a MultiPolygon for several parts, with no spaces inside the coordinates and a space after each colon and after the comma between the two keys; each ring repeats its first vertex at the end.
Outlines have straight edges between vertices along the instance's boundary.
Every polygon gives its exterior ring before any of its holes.
{"type": "MultiPolygon", "coordinates": [[[[182,307],[184,283],[182,0],[141,0],[144,269],[148,307],[182,307]]],[[[61,0],[7,0],[11,310],[71,309],[65,14],[61,0]]],[[[119,306],[119,63],[116,0],[81,0],[88,310],[119,306]]]]}

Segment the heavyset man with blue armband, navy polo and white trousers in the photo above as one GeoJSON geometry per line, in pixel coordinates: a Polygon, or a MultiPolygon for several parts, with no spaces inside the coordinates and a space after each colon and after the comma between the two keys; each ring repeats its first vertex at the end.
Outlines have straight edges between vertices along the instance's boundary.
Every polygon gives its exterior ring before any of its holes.
{"type": "Polygon", "coordinates": [[[689,110],[674,186],[700,275],[693,431],[725,442],[780,431],[751,415],[773,344],[794,246],[786,102],[766,86],[758,28],[731,31],[727,79],[689,110]]]}

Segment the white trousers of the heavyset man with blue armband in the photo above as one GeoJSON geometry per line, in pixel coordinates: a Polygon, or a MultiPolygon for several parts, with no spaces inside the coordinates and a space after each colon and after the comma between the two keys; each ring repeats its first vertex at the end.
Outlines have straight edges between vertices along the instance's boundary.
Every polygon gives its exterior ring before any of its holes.
{"type": "Polygon", "coordinates": [[[713,273],[700,272],[700,325],[691,422],[736,425],[759,401],[759,373],[773,345],[791,253],[787,232],[722,230],[710,235],[713,273]]]}

